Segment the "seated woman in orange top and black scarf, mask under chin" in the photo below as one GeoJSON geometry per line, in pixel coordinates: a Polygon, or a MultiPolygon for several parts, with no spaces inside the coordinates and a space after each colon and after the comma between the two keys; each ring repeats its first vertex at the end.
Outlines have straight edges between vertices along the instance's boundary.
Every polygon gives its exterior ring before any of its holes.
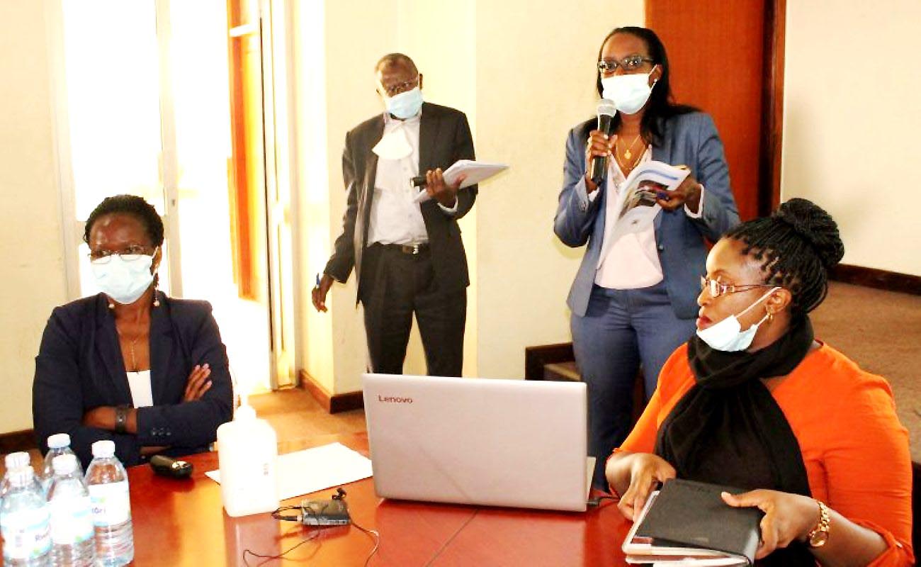
{"type": "Polygon", "coordinates": [[[809,313],[844,255],[804,199],[710,251],[697,335],[676,350],[606,475],[633,519],[668,478],[737,486],[776,565],[911,565],[911,458],[892,391],[814,340],[809,313]],[[742,330],[744,329],[744,330],[742,330]]]}

